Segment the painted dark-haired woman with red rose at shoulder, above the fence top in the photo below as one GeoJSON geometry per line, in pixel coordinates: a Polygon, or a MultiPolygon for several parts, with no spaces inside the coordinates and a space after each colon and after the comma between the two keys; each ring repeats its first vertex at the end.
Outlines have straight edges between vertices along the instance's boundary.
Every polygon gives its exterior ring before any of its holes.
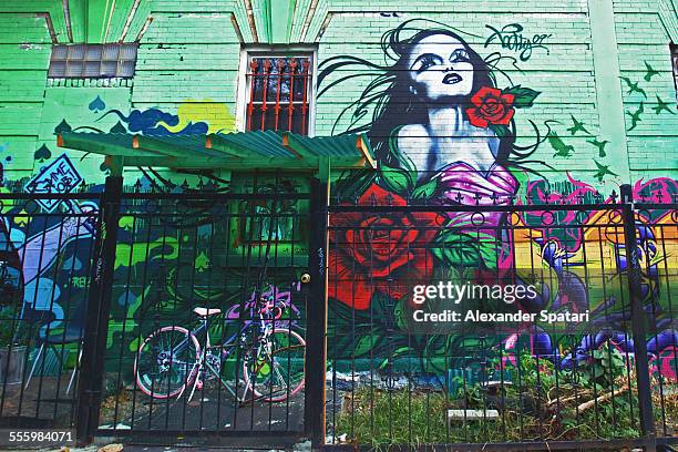
{"type": "MultiPolygon", "coordinates": [[[[439,22],[405,21],[384,33],[381,47],[393,64],[347,55],[321,63],[319,84],[349,65],[381,72],[337,124],[352,110],[346,133],[367,132],[382,165],[411,172],[418,183],[439,178],[442,202],[507,203],[518,185],[507,166],[536,147],[515,145],[516,95],[496,89],[492,65],[439,22]],[[369,110],[371,121],[361,123],[369,110]]],[[[340,76],[320,95],[361,75],[340,76]]],[[[531,101],[538,94],[532,93],[531,101]]]]}

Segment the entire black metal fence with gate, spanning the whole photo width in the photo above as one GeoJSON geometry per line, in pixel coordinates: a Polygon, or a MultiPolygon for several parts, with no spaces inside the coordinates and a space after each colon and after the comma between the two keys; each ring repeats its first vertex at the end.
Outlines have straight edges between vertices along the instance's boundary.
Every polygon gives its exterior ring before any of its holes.
{"type": "Polygon", "coordinates": [[[3,427],[674,443],[677,204],[328,215],[317,181],[234,192],[123,193],[110,177],[97,194],[1,195],[3,427]]]}

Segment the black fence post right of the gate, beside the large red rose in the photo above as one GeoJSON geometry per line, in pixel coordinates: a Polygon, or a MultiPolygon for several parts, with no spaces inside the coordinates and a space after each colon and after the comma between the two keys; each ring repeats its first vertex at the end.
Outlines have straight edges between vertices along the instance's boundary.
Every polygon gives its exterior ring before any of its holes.
{"type": "Polygon", "coordinates": [[[314,450],[325,444],[325,363],[327,358],[328,184],[311,179],[309,274],[306,302],[306,393],[304,429],[314,450]]]}

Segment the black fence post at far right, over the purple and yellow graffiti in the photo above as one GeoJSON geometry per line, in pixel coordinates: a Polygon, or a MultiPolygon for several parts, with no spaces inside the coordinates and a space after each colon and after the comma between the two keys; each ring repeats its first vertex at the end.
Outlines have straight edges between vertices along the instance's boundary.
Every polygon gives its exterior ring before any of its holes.
{"type": "Polygon", "coordinates": [[[631,186],[622,185],[622,204],[624,219],[624,239],[626,249],[626,271],[631,308],[631,331],[634,337],[634,356],[636,360],[636,383],[638,384],[638,407],[640,411],[640,431],[646,451],[656,451],[655,420],[653,417],[653,393],[647,358],[647,316],[643,310],[640,265],[638,264],[638,244],[631,186]]]}

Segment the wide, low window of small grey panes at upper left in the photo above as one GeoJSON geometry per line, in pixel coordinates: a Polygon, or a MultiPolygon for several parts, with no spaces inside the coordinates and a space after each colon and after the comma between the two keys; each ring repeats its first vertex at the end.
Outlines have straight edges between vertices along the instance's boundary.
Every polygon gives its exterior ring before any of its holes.
{"type": "Polygon", "coordinates": [[[131,79],[136,43],[53,45],[50,79],[131,79]]]}

